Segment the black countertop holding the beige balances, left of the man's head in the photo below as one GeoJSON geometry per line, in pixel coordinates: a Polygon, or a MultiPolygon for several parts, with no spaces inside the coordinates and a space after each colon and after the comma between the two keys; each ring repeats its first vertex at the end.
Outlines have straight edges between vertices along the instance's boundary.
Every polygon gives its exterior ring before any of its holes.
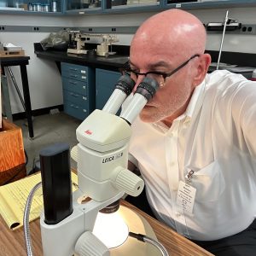
{"type": "Polygon", "coordinates": [[[75,55],[58,50],[35,50],[38,58],[47,59],[55,62],[67,62],[76,65],[105,68],[118,71],[128,61],[128,55],[108,55],[102,57],[97,55],[75,55]]]}

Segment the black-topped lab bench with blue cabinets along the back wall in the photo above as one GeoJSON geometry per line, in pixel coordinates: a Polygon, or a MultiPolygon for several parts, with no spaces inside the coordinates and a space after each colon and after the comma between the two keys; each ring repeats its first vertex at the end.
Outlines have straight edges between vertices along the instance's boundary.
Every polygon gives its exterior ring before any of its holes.
{"type": "MultiPolygon", "coordinates": [[[[129,46],[119,49],[118,52],[123,55],[74,55],[55,50],[38,50],[35,46],[35,53],[39,58],[55,61],[62,74],[64,111],[79,119],[84,119],[94,108],[102,109],[113,92],[120,76],[119,67],[123,67],[128,61],[129,46]],[[77,68],[80,73],[86,70],[89,79],[83,84],[83,80],[68,72],[67,67],[71,70],[77,68]],[[73,83],[79,85],[72,86],[73,83]]],[[[217,61],[218,51],[210,50],[207,53],[212,56],[212,61],[217,61]]],[[[237,73],[243,74],[247,79],[252,77],[253,69],[256,68],[255,60],[256,55],[247,53],[223,52],[221,56],[221,62],[239,65],[241,72],[237,73]],[[251,70],[247,68],[247,72],[242,72],[243,67],[251,67],[251,70]]],[[[210,67],[209,73],[215,69],[210,67]]]]}

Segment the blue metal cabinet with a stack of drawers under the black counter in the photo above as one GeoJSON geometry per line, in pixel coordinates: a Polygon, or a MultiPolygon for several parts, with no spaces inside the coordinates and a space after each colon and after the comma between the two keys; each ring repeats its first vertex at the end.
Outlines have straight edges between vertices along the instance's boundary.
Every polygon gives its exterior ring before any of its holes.
{"type": "Polygon", "coordinates": [[[85,119],[95,109],[95,69],[61,62],[64,112],[85,119]]]}

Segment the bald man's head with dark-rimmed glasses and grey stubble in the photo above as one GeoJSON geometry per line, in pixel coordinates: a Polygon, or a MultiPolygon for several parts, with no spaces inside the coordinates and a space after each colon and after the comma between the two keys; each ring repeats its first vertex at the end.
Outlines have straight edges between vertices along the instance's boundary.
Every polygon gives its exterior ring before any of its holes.
{"type": "Polygon", "coordinates": [[[183,10],[166,10],[139,27],[130,49],[130,67],[140,73],[134,91],[145,73],[171,73],[166,79],[156,78],[161,88],[140,113],[144,122],[161,120],[170,126],[184,113],[211,63],[211,56],[204,53],[205,44],[205,27],[183,10]]]}

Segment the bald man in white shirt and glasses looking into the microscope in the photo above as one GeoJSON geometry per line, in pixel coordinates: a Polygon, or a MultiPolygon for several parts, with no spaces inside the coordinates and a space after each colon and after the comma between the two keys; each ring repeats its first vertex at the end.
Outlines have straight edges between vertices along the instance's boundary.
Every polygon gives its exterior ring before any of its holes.
{"type": "Polygon", "coordinates": [[[132,124],[130,167],[160,221],[216,255],[254,255],[256,84],[207,74],[205,44],[201,21],[178,9],[137,30],[127,72],[160,89],[132,124]]]}

